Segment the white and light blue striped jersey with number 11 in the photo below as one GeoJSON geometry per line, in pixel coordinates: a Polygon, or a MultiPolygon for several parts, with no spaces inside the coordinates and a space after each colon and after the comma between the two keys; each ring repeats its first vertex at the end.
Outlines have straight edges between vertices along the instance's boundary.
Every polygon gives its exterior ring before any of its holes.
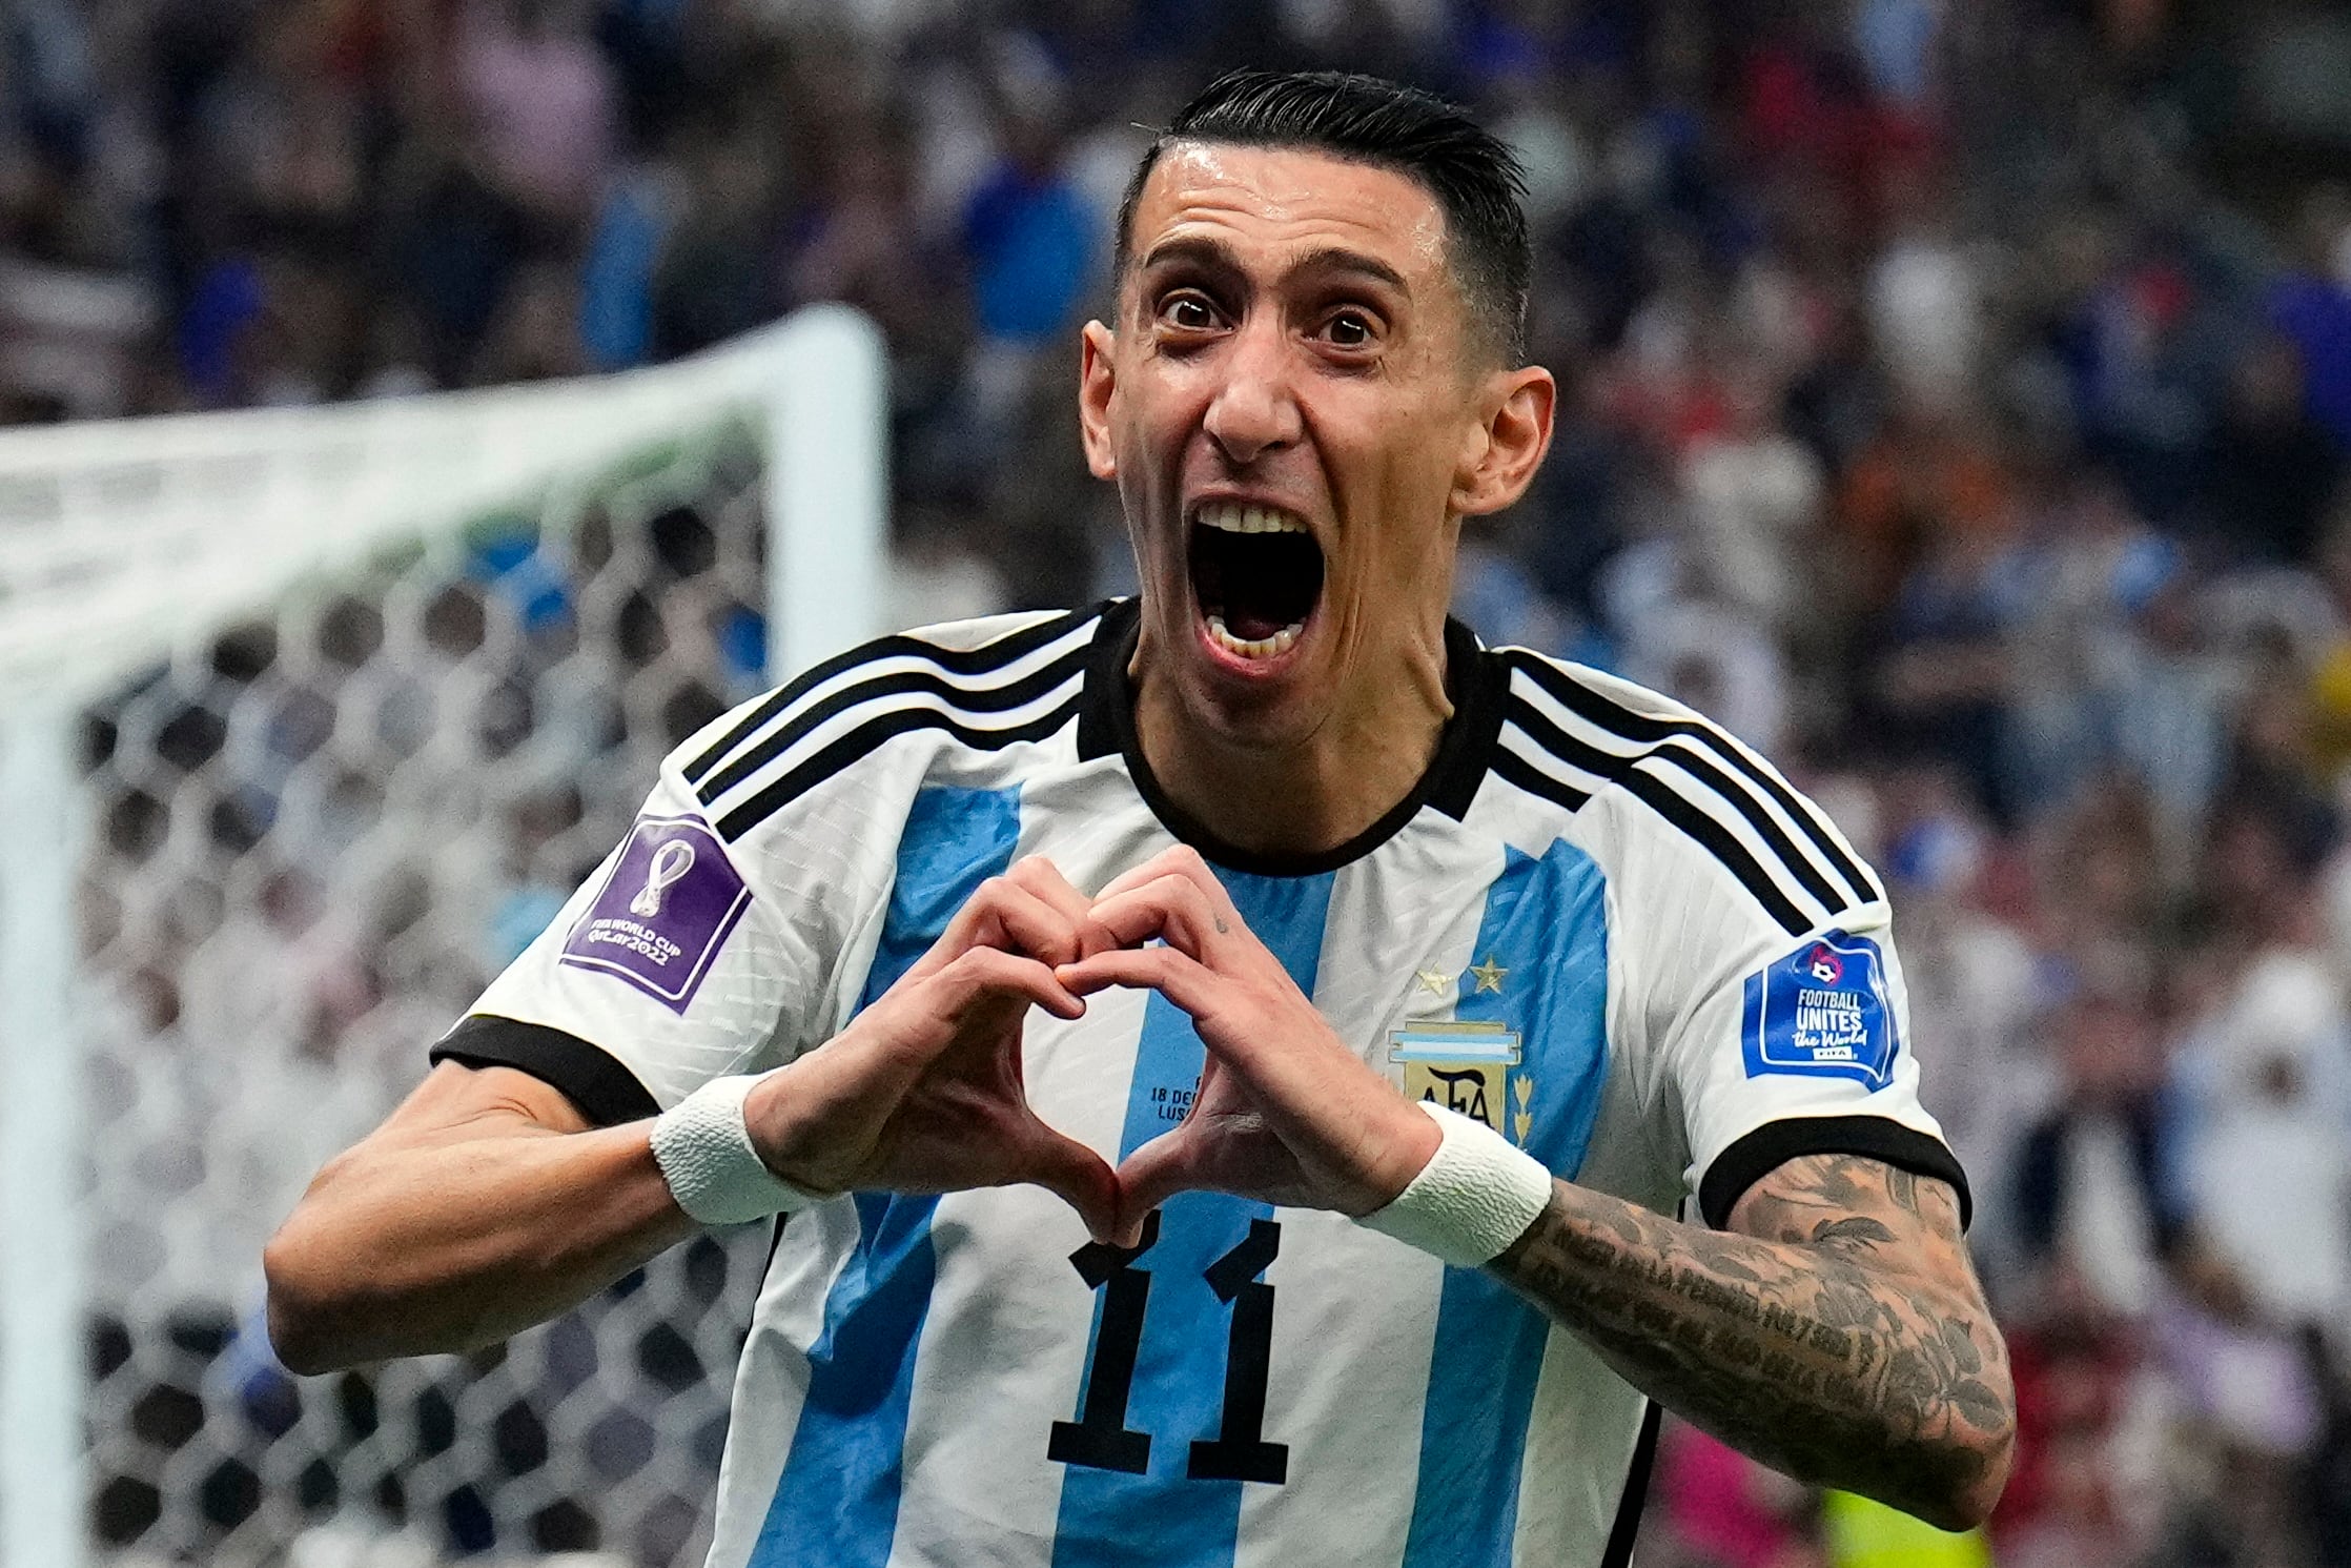
{"type": "MultiPolygon", "coordinates": [[[[1639,686],[1448,628],[1415,792],[1312,860],[1154,783],[1133,602],[886,637],[726,715],[437,1058],[604,1124],[823,1048],[1016,858],[1084,891],[1197,844],[1368,1063],[1561,1178],[1721,1225],[1806,1152],[1963,1187],[1916,1098],[1886,896],[1766,762],[1639,686]]],[[[1025,1081],[1119,1161],[1201,1041],[1147,992],[1032,1013],[1025,1081]]],[[[783,1225],[712,1568],[1625,1563],[1646,1399],[1483,1269],[1183,1194],[1140,1251],[1037,1187],[783,1225]]]]}

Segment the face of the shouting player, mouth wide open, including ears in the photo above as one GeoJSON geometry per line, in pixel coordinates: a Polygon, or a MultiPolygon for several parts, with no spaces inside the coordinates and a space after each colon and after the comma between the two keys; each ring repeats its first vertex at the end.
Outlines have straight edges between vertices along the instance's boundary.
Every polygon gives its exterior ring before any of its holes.
{"type": "Polygon", "coordinates": [[[1176,143],[1128,244],[1079,402],[1133,531],[1140,658],[1218,736],[1300,745],[1441,646],[1460,517],[1526,487],[1549,376],[1498,364],[1444,209],[1389,169],[1176,143]]]}

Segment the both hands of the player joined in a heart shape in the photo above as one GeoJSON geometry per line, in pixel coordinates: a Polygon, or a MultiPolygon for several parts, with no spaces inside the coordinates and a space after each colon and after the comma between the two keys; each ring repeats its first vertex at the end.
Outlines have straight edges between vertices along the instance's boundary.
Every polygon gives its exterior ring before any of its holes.
{"type": "Polygon", "coordinates": [[[1091,900],[1049,860],[1020,860],[837,1039],[771,1072],[745,1114],[762,1159],[797,1187],[1037,1182],[1117,1244],[1190,1190],[1364,1215],[1404,1192],[1439,1140],[1340,1041],[1192,849],[1091,900]],[[1164,994],[1208,1048],[1185,1121],[1117,1171],[1046,1126],[1020,1079],[1027,1011],[1079,1018],[1114,985],[1164,994]]]}

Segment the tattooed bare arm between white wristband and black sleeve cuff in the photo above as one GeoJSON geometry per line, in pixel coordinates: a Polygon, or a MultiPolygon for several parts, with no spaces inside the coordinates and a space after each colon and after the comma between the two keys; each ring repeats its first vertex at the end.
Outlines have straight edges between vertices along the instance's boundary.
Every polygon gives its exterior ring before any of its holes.
{"type": "Polygon", "coordinates": [[[1773,1469],[1980,1523],[2008,1479],[2015,1389],[1951,1187],[1806,1154],[1747,1190],[1730,1232],[1559,1182],[1491,1267],[1773,1469]]]}

